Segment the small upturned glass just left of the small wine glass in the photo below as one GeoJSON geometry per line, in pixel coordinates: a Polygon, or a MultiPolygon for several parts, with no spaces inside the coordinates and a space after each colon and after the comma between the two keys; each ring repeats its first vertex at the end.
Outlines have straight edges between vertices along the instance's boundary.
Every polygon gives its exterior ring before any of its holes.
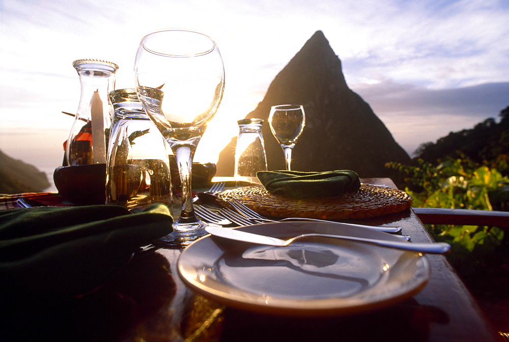
{"type": "Polygon", "coordinates": [[[263,119],[238,120],[239,136],[235,147],[235,179],[260,183],[256,173],[267,171],[262,136],[263,119]]]}

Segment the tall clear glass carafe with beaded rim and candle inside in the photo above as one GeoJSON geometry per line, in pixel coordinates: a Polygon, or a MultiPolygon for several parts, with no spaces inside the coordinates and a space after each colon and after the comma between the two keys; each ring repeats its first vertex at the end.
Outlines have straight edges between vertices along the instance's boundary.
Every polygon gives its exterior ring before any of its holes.
{"type": "Polygon", "coordinates": [[[74,123],[66,142],[64,165],[106,164],[113,109],[108,98],[115,89],[118,66],[97,59],[73,61],[81,85],[74,123]]]}

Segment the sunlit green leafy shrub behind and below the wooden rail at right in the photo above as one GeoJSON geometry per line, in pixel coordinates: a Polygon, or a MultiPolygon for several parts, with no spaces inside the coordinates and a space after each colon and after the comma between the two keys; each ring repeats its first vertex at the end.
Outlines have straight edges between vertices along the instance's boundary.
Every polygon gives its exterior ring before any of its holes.
{"type": "MultiPolygon", "coordinates": [[[[413,206],[502,210],[507,208],[509,178],[495,168],[468,158],[449,158],[434,166],[417,160],[415,166],[389,163],[404,176],[413,206]]],[[[426,225],[437,241],[450,243],[449,260],[463,277],[479,276],[509,258],[504,231],[499,227],[426,225]]]]}

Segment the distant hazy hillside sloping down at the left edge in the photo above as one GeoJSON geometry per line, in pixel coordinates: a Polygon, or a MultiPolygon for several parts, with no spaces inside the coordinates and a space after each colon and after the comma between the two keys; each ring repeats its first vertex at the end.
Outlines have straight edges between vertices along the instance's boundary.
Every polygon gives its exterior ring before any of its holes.
{"type": "Polygon", "coordinates": [[[0,151],[0,194],[42,192],[49,186],[44,172],[0,151]]]}

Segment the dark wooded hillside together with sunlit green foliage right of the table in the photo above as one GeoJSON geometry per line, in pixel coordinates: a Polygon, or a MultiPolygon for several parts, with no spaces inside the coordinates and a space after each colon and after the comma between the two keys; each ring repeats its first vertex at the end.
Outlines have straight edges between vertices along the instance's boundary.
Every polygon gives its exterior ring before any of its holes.
{"type": "MultiPolygon", "coordinates": [[[[490,118],[421,145],[411,165],[387,164],[399,171],[413,206],[509,211],[509,107],[500,116],[498,123],[490,118]]],[[[509,296],[509,231],[488,226],[427,228],[437,241],[451,244],[448,258],[474,294],[509,296]]]]}

